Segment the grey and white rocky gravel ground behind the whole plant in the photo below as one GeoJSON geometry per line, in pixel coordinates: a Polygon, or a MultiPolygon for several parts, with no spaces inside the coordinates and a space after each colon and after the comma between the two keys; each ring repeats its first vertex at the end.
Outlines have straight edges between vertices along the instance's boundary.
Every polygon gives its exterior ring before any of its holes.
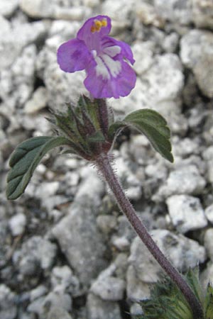
{"type": "Polygon", "coordinates": [[[84,72],[65,74],[58,46],[82,21],[111,16],[128,42],[136,88],[109,100],[116,116],[153,108],[172,131],[175,163],[126,130],[114,150],[126,194],[180,271],[200,263],[213,280],[213,4],[210,0],[0,1],[0,318],[128,319],[141,313],[160,268],[82,159],[52,152],[25,194],[6,201],[9,156],[52,135],[48,107],[84,93],[84,72]]]}

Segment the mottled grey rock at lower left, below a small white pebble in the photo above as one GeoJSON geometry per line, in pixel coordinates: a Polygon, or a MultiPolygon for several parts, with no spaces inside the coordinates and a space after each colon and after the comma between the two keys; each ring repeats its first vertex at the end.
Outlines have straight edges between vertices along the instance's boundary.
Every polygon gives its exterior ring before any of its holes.
{"type": "Polygon", "coordinates": [[[38,272],[38,267],[48,269],[52,266],[57,247],[52,242],[40,236],[33,236],[23,242],[18,256],[13,257],[18,270],[23,275],[33,275],[38,272]]]}

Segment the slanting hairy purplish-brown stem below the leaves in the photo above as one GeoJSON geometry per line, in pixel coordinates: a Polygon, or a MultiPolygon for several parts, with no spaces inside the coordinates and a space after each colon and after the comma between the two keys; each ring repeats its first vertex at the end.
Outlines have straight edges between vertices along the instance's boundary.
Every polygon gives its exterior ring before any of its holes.
{"type": "Polygon", "coordinates": [[[136,215],[136,212],[133,209],[128,198],[124,194],[123,189],[121,188],[121,184],[119,183],[116,175],[114,174],[114,170],[111,167],[111,162],[109,159],[109,155],[102,153],[96,159],[95,164],[99,169],[99,172],[102,173],[104,179],[106,179],[107,183],[111,191],[113,192],[121,211],[126,215],[129,222],[131,223],[133,229],[136,231],[138,236],[141,238],[143,243],[146,245],[148,250],[151,252],[153,257],[157,260],[160,266],[165,270],[165,272],[170,276],[170,278],[177,284],[179,289],[182,291],[185,296],[187,302],[192,309],[193,318],[194,319],[203,319],[203,311],[200,302],[197,300],[195,294],[190,289],[190,286],[187,285],[186,281],[182,278],[180,273],[175,267],[169,262],[169,260],[165,257],[163,252],[158,248],[155,244],[151,235],[149,235],[148,230],[143,225],[141,220],[136,215]]]}

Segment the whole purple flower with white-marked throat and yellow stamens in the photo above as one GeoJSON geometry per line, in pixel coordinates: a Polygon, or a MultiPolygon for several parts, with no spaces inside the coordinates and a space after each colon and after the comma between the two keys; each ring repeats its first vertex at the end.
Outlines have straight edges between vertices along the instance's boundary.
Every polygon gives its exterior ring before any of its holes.
{"type": "Polygon", "coordinates": [[[135,62],[131,48],[109,37],[111,19],[108,16],[89,18],[77,33],[58,48],[58,64],[65,72],[85,69],[84,85],[96,99],[127,96],[136,84],[136,74],[130,67],[135,62]]]}

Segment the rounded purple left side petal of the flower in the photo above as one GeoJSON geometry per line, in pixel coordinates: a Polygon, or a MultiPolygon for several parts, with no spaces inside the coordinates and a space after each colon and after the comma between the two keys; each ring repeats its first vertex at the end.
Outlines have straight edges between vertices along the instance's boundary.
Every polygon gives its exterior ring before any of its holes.
{"type": "Polygon", "coordinates": [[[58,48],[57,60],[60,69],[75,72],[85,69],[92,60],[92,54],[82,40],[69,40],[58,48]]]}

